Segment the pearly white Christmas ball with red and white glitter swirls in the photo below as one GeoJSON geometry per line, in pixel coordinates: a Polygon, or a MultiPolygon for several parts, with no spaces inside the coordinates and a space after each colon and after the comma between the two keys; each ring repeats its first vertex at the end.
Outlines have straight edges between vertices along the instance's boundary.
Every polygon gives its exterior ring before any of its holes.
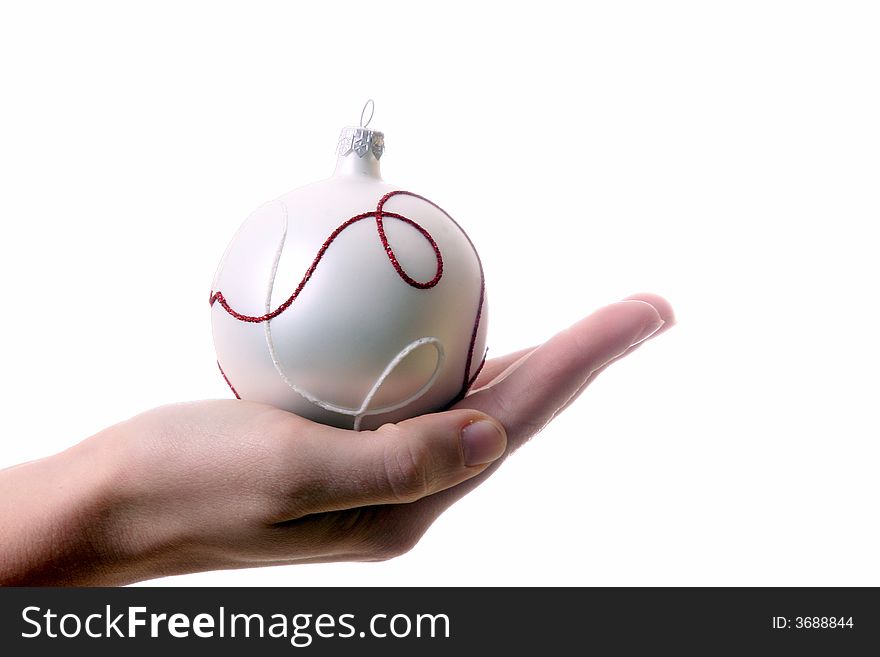
{"type": "Polygon", "coordinates": [[[473,383],[479,256],[439,205],[382,180],[383,153],[363,120],[343,129],[334,174],[258,208],[227,247],[211,321],[237,397],[358,430],[442,410],[473,383]]]}

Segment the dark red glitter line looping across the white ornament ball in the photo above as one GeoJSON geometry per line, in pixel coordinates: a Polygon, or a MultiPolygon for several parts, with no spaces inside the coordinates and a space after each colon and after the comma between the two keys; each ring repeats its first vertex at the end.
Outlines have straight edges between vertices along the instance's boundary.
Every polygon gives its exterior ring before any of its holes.
{"type": "MultiPolygon", "coordinates": [[[[407,285],[410,285],[411,287],[414,287],[414,288],[417,288],[420,290],[427,290],[427,289],[434,287],[435,285],[437,285],[437,283],[440,282],[440,279],[443,276],[443,256],[440,253],[440,247],[437,246],[437,242],[434,241],[434,238],[431,236],[431,234],[425,228],[423,228],[421,225],[419,225],[418,223],[416,223],[415,221],[413,221],[409,217],[406,217],[402,214],[399,214],[397,212],[389,212],[389,211],[385,210],[385,203],[388,201],[388,199],[390,199],[393,196],[398,196],[398,195],[412,196],[414,198],[425,201],[426,203],[428,203],[429,205],[432,205],[433,207],[437,208],[440,212],[442,212],[444,215],[446,215],[446,217],[453,224],[455,224],[456,228],[458,228],[461,231],[461,233],[465,236],[465,239],[467,239],[468,243],[471,245],[471,248],[474,250],[474,255],[477,258],[477,264],[479,265],[479,269],[480,269],[480,299],[479,299],[479,303],[477,305],[477,315],[476,315],[476,319],[474,320],[474,328],[473,328],[473,331],[471,332],[470,346],[468,347],[468,355],[467,355],[467,361],[465,363],[465,368],[464,368],[464,378],[462,381],[461,391],[460,391],[459,395],[456,397],[456,399],[454,400],[454,401],[458,401],[459,399],[463,398],[465,396],[465,394],[467,394],[468,389],[473,384],[473,381],[476,379],[477,374],[479,374],[480,370],[483,367],[483,363],[485,362],[485,356],[484,356],[483,361],[480,363],[480,366],[477,368],[477,372],[474,373],[474,375],[472,377],[468,376],[470,373],[471,365],[473,363],[474,347],[475,347],[476,341],[477,341],[477,333],[479,331],[480,319],[481,319],[481,315],[483,312],[483,300],[485,298],[486,286],[485,286],[485,279],[483,276],[483,264],[482,264],[482,262],[480,262],[480,256],[477,253],[476,248],[474,248],[474,244],[471,241],[470,237],[468,237],[467,233],[465,233],[464,230],[462,230],[461,226],[458,225],[458,223],[455,221],[455,219],[453,219],[449,215],[449,213],[446,212],[439,205],[437,205],[433,201],[426,199],[424,196],[420,196],[419,194],[414,194],[412,192],[405,192],[402,190],[388,192],[381,199],[379,199],[379,203],[376,205],[375,211],[362,212],[361,214],[356,214],[355,216],[347,219],[342,224],[340,224],[332,233],[330,233],[330,236],[326,240],[324,240],[324,243],[321,245],[321,248],[318,249],[318,253],[315,256],[315,259],[312,260],[312,264],[309,265],[309,268],[306,270],[305,275],[302,277],[302,280],[300,280],[299,285],[296,286],[296,289],[293,291],[293,293],[287,299],[285,299],[277,308],[275,308],[275,310],[267,312],[263,315],[245,315],[243,313],[238,312],[234,308],[232,308],[229,305],[229,302],[226,301],[226,297],[223,296],[223,292],[220,290],[218,290],[216,292],[214,292],[213,290],[211,291],[211,295],[209,298],[210,305],[213,306],[214,303],[219,303],[227,313],[229,313],[232,317],[235,317],[235,319],[240,320],[242,322],[261,323],[261,322],[266,322],[266,321],[273,319],[275,317],[278,317],[278,315],[280,315],[285,310],[290,308],[290,306],[293,304],[293,302],[296,301],[296,298],[299,296],[300,292],[303,291],[303,288],[305,288],[306,284],[309,282],[309,280],[312,278],[312,275],[315,273],[315,270],[318,268],[318,265],[320,264],[321,260],[323,259],[324,254],[327,252],[327,249],[330,248],[330,245],[333,244],[333,242],[336,240],[336,238],[339,237],[339,235],[346,228],[357,223],[358,221],[361,221],[362,219],[366,219],[367,217],[374,217],[375,218],[376,232],[379,234],[379,241],[382,243],[382,248],[385,250],[385,254],[388,256],[388,260],[391,263],[391,266],[394,267],[394,270],[397,272],[397,275],[400,276],[400,278],[407,285]],[[404,223],[409,224],[410,226],[415,228],[417,231],[419,231],[419,233],[421,233],[422,237],[424,237],[425,240],[427,240],[427,242],[431,245],[431,248],[434,250],[434,256],[437,260],[437,270],[436,270],[436,273],[434,274],[434,277],[431,280],[424,281],[424,282],[417,281],[414,278],[412,278],[409,274],[407,274],[406,271],[403,269],[403,267],[400,265],[400,262],[398,262],[397,256],[394,253],[394,249],[391,247],[391,244],[389,244],[388,237],[385,235],[385,219],[388,217],[390,217],[392,219],[398,219],[399,221],[403,221],[404,223]]],[[[217,365],[219,367],[220,364],[217,363],[217,365]]],[[[222,367],[220,368],[220,373],[223,374],[223,378],[226,380],[226,383],[229,385],[229,388],[232,390],[232,392],[235,394],[235,396],[240,399],[241,397],[239,397],[238,392],[236,392],[232,383],[229,381],[229,378],[226,376],[226,373],[223,372],[222,367]]]]}

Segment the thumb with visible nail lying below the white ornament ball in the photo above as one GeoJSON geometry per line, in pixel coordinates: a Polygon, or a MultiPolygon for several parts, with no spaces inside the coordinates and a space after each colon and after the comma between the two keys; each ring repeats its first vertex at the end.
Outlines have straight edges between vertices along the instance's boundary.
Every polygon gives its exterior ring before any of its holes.
{"type": "Polygon", "coordinates": [[[485,470],[507,447],[504,428],[473,410],[432,413],[375,431],[312,425],[290,461],[283,518],[413,502],[485,470]]]}

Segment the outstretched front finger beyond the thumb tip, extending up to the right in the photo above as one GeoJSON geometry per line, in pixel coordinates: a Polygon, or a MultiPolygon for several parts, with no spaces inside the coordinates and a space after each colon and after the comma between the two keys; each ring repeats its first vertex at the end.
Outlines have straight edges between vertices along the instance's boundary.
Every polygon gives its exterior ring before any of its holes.
{"type": "Polygon", "coordinates": [[[507,378],[462,400],[496,417],[516,448],[541,430],[590,375],[663,326],[654,307],[626,300],[596,311],[532,352],[507,378]]]}

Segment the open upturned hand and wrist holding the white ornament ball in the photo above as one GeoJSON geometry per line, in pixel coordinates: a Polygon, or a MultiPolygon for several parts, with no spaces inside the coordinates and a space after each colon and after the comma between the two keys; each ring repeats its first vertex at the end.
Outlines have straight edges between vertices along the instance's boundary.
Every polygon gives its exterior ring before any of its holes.
{"type": "Polygon", "coordinates": [[[487,362],[452,409],[376,431],[238,400],[148,411],[0,471],[0,583],[399,555],[605,367],[673,323],[654,295],[606,306],[487,362]]]}

